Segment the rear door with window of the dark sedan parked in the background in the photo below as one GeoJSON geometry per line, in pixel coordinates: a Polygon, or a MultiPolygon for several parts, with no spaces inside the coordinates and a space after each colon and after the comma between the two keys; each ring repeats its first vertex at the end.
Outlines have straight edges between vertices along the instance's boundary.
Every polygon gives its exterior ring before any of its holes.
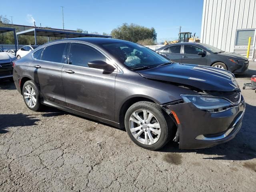
{"type": "Polygon", "coordinates": [[[181,45],[171,45],[164,48],[161,51],[161,54],[174,62],[180,63],[182,62],[182,55],[180,50],[181,45]]]}

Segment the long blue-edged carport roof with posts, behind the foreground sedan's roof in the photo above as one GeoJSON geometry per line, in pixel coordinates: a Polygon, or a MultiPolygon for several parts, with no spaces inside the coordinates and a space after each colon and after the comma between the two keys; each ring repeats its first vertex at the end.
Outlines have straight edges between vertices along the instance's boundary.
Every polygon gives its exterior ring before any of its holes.
{"type": "Polygon", "coordinates": [[[43,29],[43,28],[32,28],[29,30],[21,31],[16,33],[17,45],[18,43],[18,35],[30,35],[35,37],[35,45],[37,44],[36,37],[44,36],[48,37],[48,42],[50,42],[50,37],[60,37],[60,38],[76,38],[76,37],[104,37],[104,38],[112,38],[112,36],[108,35],[96,35],[96,34],[88,34],[88,33],[78,33],[72,32],[68,30],[52,30],[52,29],[43,29]]]}

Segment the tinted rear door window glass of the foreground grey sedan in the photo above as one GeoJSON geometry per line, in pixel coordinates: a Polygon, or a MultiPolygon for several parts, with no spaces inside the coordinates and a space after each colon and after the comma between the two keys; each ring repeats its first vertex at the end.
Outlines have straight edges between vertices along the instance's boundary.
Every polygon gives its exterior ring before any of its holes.
{"type": "Polygon", "coordinates": [[[65,47],[66,43],[47,46],[42,53],[41,60],[61,63],[65,47]]]}

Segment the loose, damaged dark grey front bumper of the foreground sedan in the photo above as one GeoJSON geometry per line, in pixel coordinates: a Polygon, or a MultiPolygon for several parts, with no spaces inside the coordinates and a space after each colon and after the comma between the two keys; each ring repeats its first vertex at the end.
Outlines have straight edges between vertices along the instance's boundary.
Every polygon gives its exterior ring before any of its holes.
{"type": "Polygon", "coordinates": [[[164,106],[176,121],[179,148],[196,149],[224,143],[235,137],[242,126],[245,102],[222,112],[206,112],[191,102],[164,106]],[[177,122],[177,118],[178,121],[177,122]]]}

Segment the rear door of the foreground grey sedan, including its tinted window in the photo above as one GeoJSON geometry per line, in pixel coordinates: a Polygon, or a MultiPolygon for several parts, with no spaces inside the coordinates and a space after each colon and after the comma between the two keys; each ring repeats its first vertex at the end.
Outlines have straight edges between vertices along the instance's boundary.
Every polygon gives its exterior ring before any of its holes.
{"type": "Polygon", "coordinates": [[[62,67],[67,43],[46,46],[33,53],[34,82],[40,93],[50,102],[66,105],[62,86],[62,67]]]}

